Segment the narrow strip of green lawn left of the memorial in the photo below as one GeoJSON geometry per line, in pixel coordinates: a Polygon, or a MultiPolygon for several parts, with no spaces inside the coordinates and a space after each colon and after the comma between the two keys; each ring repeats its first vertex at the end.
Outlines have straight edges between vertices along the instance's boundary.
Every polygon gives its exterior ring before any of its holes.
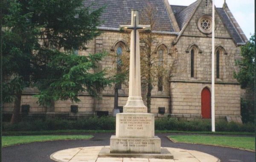
{"type": "Polygon", "coordinates": [[[92,135],[39,135],[39,136],[3,136],[2,147],[8,145],[15,145],[20,143],[31,143],[40,141],[53,140],[75,140],[75,139],[89,139],[92,135]]]}

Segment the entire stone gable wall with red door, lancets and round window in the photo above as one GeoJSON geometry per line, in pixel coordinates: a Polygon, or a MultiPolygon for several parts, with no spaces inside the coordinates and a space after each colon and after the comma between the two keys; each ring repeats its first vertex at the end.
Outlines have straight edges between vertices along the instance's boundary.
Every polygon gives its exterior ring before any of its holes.
{"type": "MultiPolygon", "coordinates": [[[[197,27],[198,19],[202,15],[212,14],[212,4],[208,1],[206,5],[205,2],[207,1],[202,1],[198,6],[174,47],[179,58],[179,67],[170,83],[172,117],[188,120],[202,118],[201,92],[204,87],[211,89],[212,34],[203,34],[197,27]],[[195,51],[194,77],[191,77],[192,49],[195,51]]],[[[215,12],[215,25],[215,47],[221,51],[219,78],[216,78],[215,54],[215,116],[217,120],[224,120],[226,116],[241,117],[241,89],[233,78],[233,71],[238,70],[235,61],[241,59],[240,47],[229,35],[217,12],[215,12]]]]}

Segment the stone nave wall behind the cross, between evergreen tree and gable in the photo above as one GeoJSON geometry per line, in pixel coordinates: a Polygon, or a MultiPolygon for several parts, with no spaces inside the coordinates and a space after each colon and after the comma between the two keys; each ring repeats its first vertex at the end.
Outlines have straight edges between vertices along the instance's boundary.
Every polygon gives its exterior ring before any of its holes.
{"type": "MultiPolygon", "coordinates": [[[[162,41],[164,45],[167,46],[169,53],[172,52],[172,45],[170,42],[172,42],[176,36],[172,35],[162,35],[159,38],[159,41],[162,41]]],[[[111,73],[110,75],[113,75],[115,73],[115,67],[116,63],[113,62],[113,58],[111,57],[112,55],[115,55],[116,47],[114,45],[121,43],[122,45],[125,46],[123,49],[123,52],[128,52],[129,53],[129,47],[130,45],[128,44],[129,42],[129,34],[127,33],[119,33],[113,32],[113,31],[105,31],[105,33],[100,36],[101,42],[102,42],[102,48],[100,50],[106,50],[106,51],[111,51],[110,56],[105,57],[101,61],[102,69],[108,68],[110,69],[111,73]],[[120,41],[120,42],[119,42],[120,41]]],[[[85,51],[84,51],[85,53],[85,51]]],[[[166,57],[171,57],[167,55],[168,53],[165,53],[166,57]]],[[[168,59],[170,60],[170,59],[168,59]]],[[[169,62],[168,62],[169,63],[169,62]]],[[[166,76],[167,77],[167,76],[166,76]]],[[[169,112],[169,82],[168,79],[164,79],[165,83],[163,84],[163,91],[157,91],[157,84],[154,86],[152,90],[152,99],[151,99],[151,112],[155,113],[156,116],[161,116],[157,115],[158,113],[158,107],[165,107],[165,112],[169,112]],[[167,96],[167,98],[166,98],[167,96]],[[159,103],[161,101],[161,103],[159,103]],[[163,102],[162,102],[163,101],[163,102]]],[[[143,85],[142,85],[142,91],[143,91],[143,85]]],[[[142,97],[143,101],[146,104],[146,94],[145,94],[145,87],[144,91],[142,92],[142,97]]],[[[128,98],[128,87],[125,86],[125,84],[122,84],[122,89],[119,89],[119,106],[125,106],[126,101],[128,98]],[[123,96],[123,97],[122,97],[123,96]]],[[[114,85],[112,87],[106,88],[102,92],[102,100],[97,101],[96,104],[96,111],[108,111],[110,115],[112,115],[113,112],[113,105],[114,105],[114,85]]]]}

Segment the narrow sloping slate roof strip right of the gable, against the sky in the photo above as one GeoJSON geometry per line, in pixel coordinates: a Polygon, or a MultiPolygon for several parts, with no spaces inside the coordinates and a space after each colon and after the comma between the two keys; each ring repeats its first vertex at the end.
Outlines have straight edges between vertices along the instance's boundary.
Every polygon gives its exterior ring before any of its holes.
{"type": "Polygon", "coordinates": [[[244,43],[244,41],[241,39],[240,35],[236,31],[236,28],[232,24],[231,20],[227,16],[225,10],[223,8],[217,8],[217,11],[218,11],[219,15],[221,16],[224,24],[226,25],[226,28],[228,29],[231,36],[233,37],[234,41],[236,43],[244,43]]]}

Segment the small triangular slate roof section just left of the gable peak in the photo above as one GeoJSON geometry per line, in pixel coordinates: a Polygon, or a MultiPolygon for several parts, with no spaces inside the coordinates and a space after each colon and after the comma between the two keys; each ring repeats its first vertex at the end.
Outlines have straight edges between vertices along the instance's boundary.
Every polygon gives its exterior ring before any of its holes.
{"type": "MultiPolygon", "coordinates": [[[[194,3],[192,3],[191,5],[187,6],[186,8],[183,8],[182,10],[180,10],[179,12],[177,12],[175,14],[176,17],[176,21],[180,27],[180,30],[184,27],[184,25],[186,24],[186,22],[189,20],[190,15],[192,14],[192,12],[194,11],[195,7],[197,6],[198,2],[200,0],[195,1],[194,3]]],[[[171,6],[172,7],[172,6],[171,6]]],[[[177,6],[176,6],[177,8],[177,6]]],[[[181,7],[180,7],[181,8],[181,7]]],[[[179,8],[179,9],[180,9],[179,8]]]]}

